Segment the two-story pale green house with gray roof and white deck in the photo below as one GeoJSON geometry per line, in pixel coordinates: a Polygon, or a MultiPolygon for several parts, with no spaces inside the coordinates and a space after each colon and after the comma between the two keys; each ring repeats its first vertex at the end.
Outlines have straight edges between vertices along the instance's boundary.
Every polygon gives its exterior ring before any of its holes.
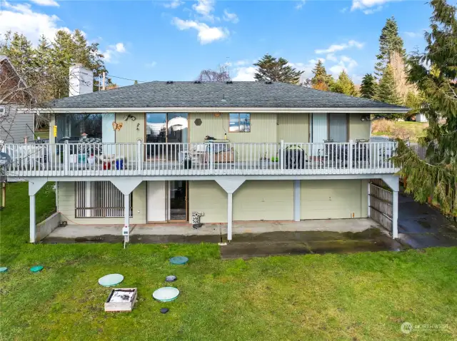
{"type": "Polygon", "coordinates": [[[10,170],[31,181],[31,217],[52,180],[69,224],[191,223],[195,212],[231,240],[232,220],[367,218],[378,178],[393,189],[396,238],[395,143],[369,143],[369,118],[408,108],[286,83],[155,81],[49,110],[57,136],[35,153],[46,162],[10,170]]]}

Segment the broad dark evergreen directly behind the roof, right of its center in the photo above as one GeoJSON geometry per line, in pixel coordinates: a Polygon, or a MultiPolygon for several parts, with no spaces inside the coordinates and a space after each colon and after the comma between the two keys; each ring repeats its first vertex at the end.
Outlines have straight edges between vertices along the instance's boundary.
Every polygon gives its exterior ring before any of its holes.
{"type": "Polygon", "coordinates": [[[292,66],[288,65],[288,61],[284,58],[274,58],[270,54],[263,56],[257,63],[254,78],[256,81],[276,81],[282,83],[298,84],[300,76],[304,71],[297,71],[292,66]]]}

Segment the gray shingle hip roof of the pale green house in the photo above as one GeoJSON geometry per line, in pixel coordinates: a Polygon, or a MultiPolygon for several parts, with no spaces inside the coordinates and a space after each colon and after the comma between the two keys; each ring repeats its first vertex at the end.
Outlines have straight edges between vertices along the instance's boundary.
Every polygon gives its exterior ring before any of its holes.
{"type": "Polygon", "coordinates": [[[288,83],[149,83],[61,98],[51,108],[383,108],[388,103],[288,83]]]}

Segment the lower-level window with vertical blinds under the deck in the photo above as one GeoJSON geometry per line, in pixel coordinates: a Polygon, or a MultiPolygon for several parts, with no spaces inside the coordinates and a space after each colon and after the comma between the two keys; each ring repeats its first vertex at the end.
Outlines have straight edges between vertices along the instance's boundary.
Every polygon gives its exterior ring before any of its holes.
{"type": "MultiPolygon", "coordinates": [[[[130,216],[133,215],[130,193],[130,216]]],[[[76,218],[124,217],[124,194],[111,181],[76,182],[76,218]]]]}

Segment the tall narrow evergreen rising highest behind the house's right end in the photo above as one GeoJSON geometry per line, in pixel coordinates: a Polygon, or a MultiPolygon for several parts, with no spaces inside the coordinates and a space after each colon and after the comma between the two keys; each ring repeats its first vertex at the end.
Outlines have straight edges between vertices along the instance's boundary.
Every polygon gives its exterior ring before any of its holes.
{"type": "Polygon", "coordinates": [[[403,59],[406,59],[406,51],[403,49],[403,39],[398,35],[398,25],[392,16],[387,19],[386,25],[379,36],[379,54],[376,56],[378,62],[375,66],[376,78],[381,79],[383,71],[391,63],[393,52],[398,52],[403,59]]]}

